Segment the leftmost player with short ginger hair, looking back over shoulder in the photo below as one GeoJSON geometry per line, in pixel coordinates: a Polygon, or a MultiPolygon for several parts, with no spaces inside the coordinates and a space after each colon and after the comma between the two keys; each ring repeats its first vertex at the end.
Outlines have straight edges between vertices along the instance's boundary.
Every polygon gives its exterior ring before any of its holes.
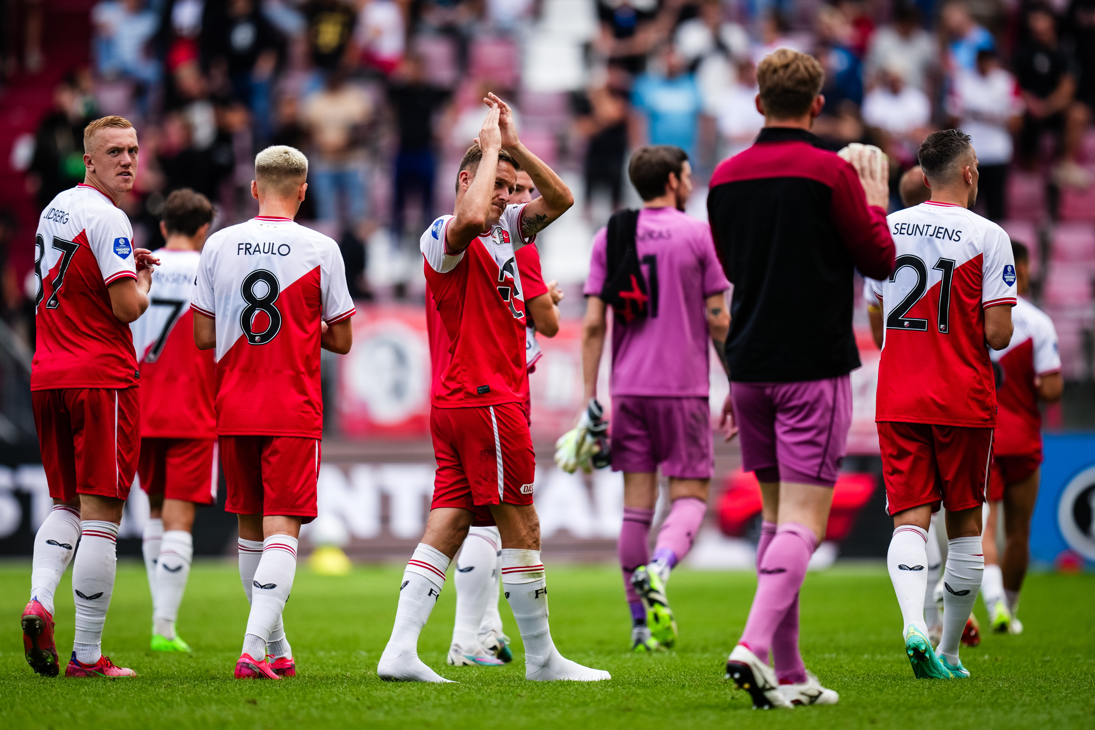
{"type": "Polygon", "coordinates": [[[57,675],[54,592],[79,541],[76,642],[65,675],[134,676],[101,648],[139,447],[140,372],[129,323],[148,308],[148,266],[157,259],[134,250],[129,218],[117,207],[137,173],[132,125],[95,119],[83,130],[83,183],[53,199],[34,240],[31,397],[54,509],[34,540],[23,647],[35,672],[57,675]]]}

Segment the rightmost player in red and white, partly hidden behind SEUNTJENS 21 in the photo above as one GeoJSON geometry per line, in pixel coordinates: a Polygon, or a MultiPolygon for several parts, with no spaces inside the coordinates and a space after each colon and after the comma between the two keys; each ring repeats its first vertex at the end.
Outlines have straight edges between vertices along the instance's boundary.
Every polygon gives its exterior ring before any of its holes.
{"type": "Polygon", "coordinates": [[[1030,518],[1041,476],[1041,412],[1038,401],[1061,398],[1061,356],[1057,331],[1045,312],[1024,299],[1030,290],[1030,254],[1012,243],[1015,290],[1012,310],[1015,332],[1006,348],[991,352],[996,369],[996,434],[989,475],[991,519],[984,525],[984,581],[981,600],[992,630],[1023,633],[1019,589],[1030,559],[1030,518]],[[996,510],[1004,509],[1004,555],[996,555],[996,510]]]}

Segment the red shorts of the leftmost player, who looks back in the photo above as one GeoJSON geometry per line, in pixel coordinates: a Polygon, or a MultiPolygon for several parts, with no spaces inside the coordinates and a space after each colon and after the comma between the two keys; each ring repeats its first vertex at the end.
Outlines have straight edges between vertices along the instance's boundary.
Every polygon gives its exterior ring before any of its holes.
{"type": "Polygon", "coordinates": [[[67,387],[31,393],[50,497],[70,501],[78,494],[117,499],[129,496],[140,451],[137,389],[67,387]]]}

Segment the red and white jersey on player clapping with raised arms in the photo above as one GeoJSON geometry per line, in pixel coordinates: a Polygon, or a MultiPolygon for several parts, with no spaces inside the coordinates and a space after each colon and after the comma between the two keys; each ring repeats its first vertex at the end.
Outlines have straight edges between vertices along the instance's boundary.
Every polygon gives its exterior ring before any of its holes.
{"type": "Polygon", "coordinates": [[[439,408],[522,403],[526,315],[515,242],[525,205],[508,206],[491,231],[450,256],[445,236],[453,216],[422,234],[430,354],[430,402],[439,408]],[[445,354],[447,352],[447,361],[445,354]]]}

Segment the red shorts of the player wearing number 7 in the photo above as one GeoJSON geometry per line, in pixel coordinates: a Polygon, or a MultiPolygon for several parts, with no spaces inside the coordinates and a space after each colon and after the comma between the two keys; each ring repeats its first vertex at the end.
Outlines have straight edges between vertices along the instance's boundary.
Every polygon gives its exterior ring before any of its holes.
{"type": "Polygon", "coordinates": [[[141,439],[137,475],[149,495],[197,505],[217,501],[217,439],[141,439]]]}

